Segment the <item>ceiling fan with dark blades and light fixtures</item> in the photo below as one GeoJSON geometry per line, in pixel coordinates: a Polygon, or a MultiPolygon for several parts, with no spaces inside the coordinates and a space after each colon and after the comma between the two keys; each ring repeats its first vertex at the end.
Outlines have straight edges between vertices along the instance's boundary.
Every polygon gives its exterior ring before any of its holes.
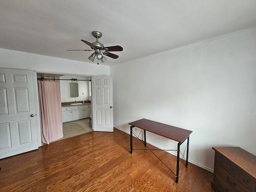
{"type": "Polygon", "coordinates": [[[110,53],[109,51],[122,51],[123,48],[121,46],[116,45],[116,46],[104,47],[104,45],[98,41],[98,39],[101,38],[102,33],[99,31],[93,31],[92,35],[96,38],[96,42],[90,43],[88,41],[81,39],[81,41],[87,44],[88,46],[90,46],[92,50],[67,50],[67,51],[94,51],[94,53],[91,54],[91,56],[88,58],[92,62],[94,62],[95,58],[97,58],[98,60],[101,60],[102,63],[105,62],[107,59],[103,55],[106,55],[113,59],[118,58],[118,55],[110,53]]]}

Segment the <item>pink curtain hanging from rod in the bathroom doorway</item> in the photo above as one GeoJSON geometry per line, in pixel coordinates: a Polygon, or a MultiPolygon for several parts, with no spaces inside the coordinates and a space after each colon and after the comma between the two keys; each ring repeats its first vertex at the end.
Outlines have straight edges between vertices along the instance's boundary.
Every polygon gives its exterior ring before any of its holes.
{"type": "Polygon", "coordinates": [[[42,143],[50,144],[63,137],[59,83],[38,80],[38,95],[42,143]]]}

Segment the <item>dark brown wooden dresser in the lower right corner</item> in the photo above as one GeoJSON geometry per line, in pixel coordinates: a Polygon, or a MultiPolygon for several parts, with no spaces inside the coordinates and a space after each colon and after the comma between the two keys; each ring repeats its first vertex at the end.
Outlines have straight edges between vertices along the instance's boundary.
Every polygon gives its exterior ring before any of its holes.
{"type": "Polygon", "coordinates": [[[256,156],[240,147],[215,150],[214,192],[256,192],[256,156]]]}

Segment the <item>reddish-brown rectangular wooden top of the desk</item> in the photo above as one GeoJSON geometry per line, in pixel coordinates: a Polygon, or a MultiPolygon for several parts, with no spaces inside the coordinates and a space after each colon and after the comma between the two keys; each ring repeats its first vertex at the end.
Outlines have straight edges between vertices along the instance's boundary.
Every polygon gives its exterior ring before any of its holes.
{"type": "Polygon", "coordinates": [[[190,130],[158,123],[148,119],[141,119],[129,124],[181,143],[183,143],[192,133],[190,130]]]}

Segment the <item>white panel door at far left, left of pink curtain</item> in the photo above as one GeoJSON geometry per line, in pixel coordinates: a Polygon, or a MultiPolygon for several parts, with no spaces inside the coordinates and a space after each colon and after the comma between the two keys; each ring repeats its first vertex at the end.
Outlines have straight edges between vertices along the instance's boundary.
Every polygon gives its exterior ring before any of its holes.
{"type": "Polygon", "coordinates": [[[0,68],[0,159],[38,149],[33,72],[0,68]]]}

